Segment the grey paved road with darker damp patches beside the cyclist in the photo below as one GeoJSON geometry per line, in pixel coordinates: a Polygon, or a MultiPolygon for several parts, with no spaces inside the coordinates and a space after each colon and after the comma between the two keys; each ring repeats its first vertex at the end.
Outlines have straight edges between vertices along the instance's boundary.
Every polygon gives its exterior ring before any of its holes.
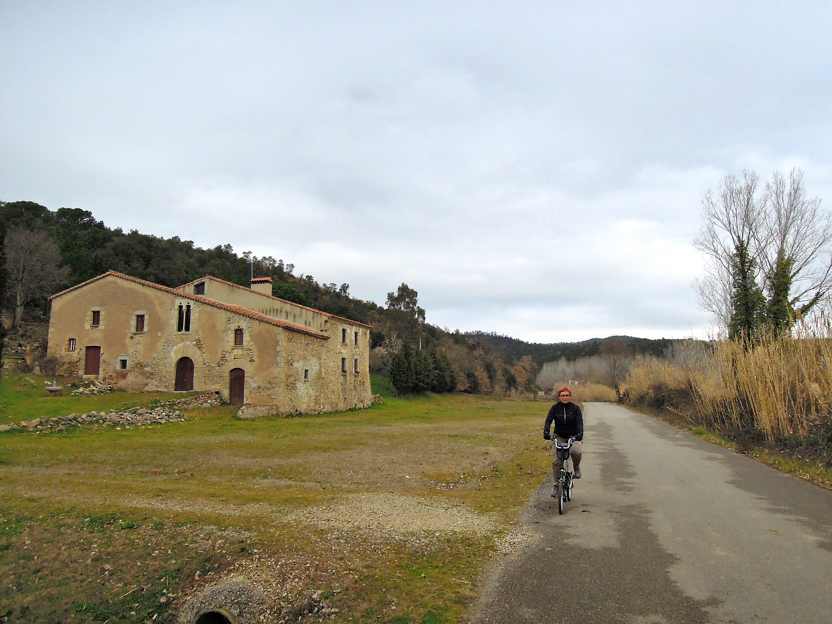
{"type": "Polygon", "coordinates": [[[476,622],[832,622],[832,492],[617,405],[585,414],[572,503],[537,490],[476,622]]]}

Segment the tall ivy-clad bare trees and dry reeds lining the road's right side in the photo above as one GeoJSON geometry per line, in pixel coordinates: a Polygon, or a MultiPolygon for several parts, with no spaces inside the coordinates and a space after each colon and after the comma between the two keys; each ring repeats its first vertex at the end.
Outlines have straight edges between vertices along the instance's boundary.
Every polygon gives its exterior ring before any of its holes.
{"type": "Polygon", "coordinates": [[[744,171],[703,194],[695,245],[718,337],[636,358],[622,399],[832,486],[832,215],[799,169],[744,171]]]}

